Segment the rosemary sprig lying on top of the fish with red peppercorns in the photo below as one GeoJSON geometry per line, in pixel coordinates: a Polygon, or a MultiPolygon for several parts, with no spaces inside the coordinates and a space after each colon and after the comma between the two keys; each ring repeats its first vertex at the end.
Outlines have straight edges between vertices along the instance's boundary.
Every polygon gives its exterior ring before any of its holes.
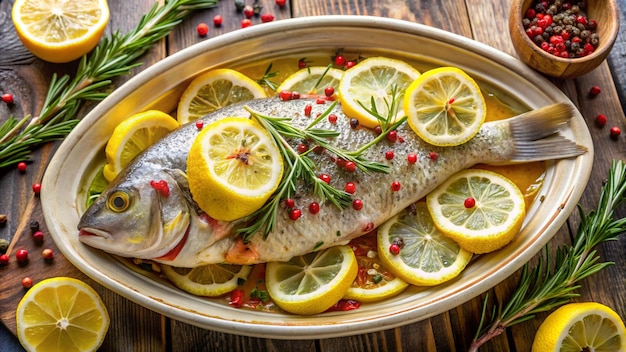
{"type": "MultiPolygon", "coordinates": [[[[392,105],[397,100],[397,95],[393,95],[392,105]]],[[[276,223],[276,215],[281,200],[291,198],[296,192],[296,187],[299,181],[302,181],[304,185],[313,188],[313,194],[320,198],[322,201],[329,201],[337,208],[345,209],[352,203],[352,196],[350,193],[334,188],[320,179],[315,174],[315,163],[309,158],[314,148],[312,145],[317,145],[331,154],[334,154],[337,158],[345,161],[352,161],[357,168],[363,172],[382,172],[388,173],[389,166],[380,162],[368,160],[363,157],[363,153],[371,146],[378,143],[385,138],[387,134],[396,129],[400,124],[404,123],[406,118],[400,119],[394,123],[390,120],[395,117],[394,110],[390,111],[388,116],[381,116],[372,101],[372,107],[368,109],[372,114],[375,114],[376,118],[381,121],[382,132],[373,138],[368,143],[365,143],[356,150],[344,150],[330,143],[329,140],[340,135],[338,131],[316,128],[316,125],[320,121],[325,119],[337,105],[337,102],[333,102],[324,113],[320,114],[315,120],[313,120],[304,129],[299,129],[291,123],[289,117],[275,117],[261,114],[252,110],[249,107],[244,107],[252,116],[253,119],[258,121],[272,136],[276,145],[280,149],[283,162],[285,164],[285,175],[283,176],[278,189],[270,197],[270,199],[259,210],[251,214],[247,220],[250,225],[239,229],[244,241],[248,241],[254,234],[261,231],[264,237],[274,229],[276,223]],[[304,153],[299,153],[295,150],[289,141],[304,140],[309,143],[309,149],[304,153]]]]}

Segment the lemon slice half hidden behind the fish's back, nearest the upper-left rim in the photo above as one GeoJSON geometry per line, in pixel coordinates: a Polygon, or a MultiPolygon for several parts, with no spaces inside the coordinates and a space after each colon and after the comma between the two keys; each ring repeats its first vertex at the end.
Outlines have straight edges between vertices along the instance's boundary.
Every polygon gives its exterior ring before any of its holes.
{"type": "Polygon", "coordinates": [[[191,81],[180,97],[178,122],[184,125],[225,106],[266,96],[263,87],[235,70],[208,71],[191,81]]]}

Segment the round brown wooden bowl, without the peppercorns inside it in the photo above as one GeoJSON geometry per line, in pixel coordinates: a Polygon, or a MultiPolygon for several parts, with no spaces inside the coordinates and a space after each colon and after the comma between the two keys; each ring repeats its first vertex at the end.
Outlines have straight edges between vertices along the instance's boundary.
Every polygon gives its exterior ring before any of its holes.
{"type": "Polygon", "coordinates": [[[588,0],[587,17],[598,21],[600,44],[588,56],[564,59],[542,50],[526,34],[522,19],[533,0],[513,0],[509,14],[511,40],[519,59],[533,69],[556,78],[574,78],[598,67],[611,51],[619,30],[615,0],[588,0]]]}

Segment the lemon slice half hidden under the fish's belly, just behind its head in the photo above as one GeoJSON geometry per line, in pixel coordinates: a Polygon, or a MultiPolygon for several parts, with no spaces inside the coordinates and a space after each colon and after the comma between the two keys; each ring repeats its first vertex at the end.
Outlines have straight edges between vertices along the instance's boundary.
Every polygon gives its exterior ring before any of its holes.
{"type": "Polygon", "coordinates": [[[181,290],[197,296],[216,297],[236,289],[246,280],[252,266],[208,264],[196,268],[177,268],[161,264],[161,269],[181,290]]]}

